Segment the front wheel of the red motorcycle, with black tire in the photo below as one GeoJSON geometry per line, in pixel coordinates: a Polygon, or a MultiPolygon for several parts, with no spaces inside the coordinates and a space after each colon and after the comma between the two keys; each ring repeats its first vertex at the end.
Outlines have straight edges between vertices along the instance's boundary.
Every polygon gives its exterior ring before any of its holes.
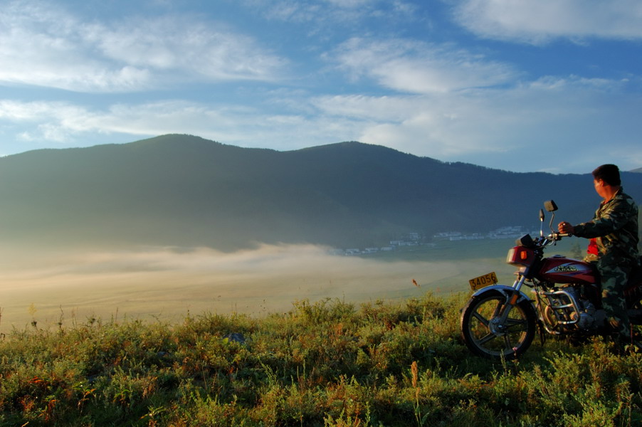
{"type": "Polygon", "coordinates": [[[470,298],[461,312],[461,336],[468,349],[487,359],[515,359],[535,338],[537,315],[530,301],[512,307],[505,329],[493,322],[505,308],[506,296],[489,290],[470,298]]]}

